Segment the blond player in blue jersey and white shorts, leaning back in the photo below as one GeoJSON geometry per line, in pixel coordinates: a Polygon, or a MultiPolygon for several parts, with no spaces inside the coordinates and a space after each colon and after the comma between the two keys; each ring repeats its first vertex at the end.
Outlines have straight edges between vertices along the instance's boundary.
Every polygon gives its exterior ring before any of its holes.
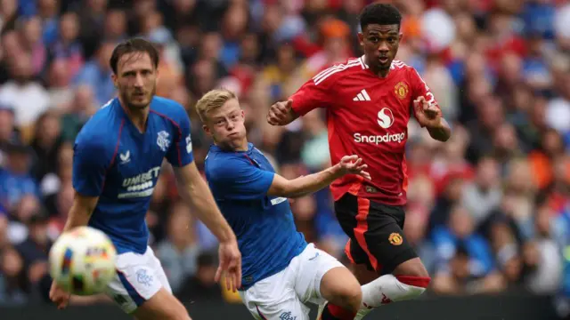
{"type": "Polygon", "coordinates": [[[360,284],[326,252],[297,232],[288,197],[325,188],[346,173],[365,172],[357,156],[295,180],[275,173],[246,138],[244,112],[233,92],[208,92],[196,106],[204,130],[213,137],[206,177],[220,210],[238,237],[243,277],[240,297],[256,319],[305,320],[305,303],[322,304],[322,320],[352,320],[360,307],[360,284]]]}

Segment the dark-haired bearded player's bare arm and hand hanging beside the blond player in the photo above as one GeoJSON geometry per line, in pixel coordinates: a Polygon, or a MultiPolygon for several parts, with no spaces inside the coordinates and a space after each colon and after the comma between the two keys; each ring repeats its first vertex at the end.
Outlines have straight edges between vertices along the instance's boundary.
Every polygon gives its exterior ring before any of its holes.
{"type": "Polygon", "coordinates": [[[226,287],[235,292],[241,286],[241,254],[236,236],[219,211],[214,196],[200,176],[196,164],[192,162],[174,169],[180,196],[220,242],[220,267],[216,272],[216,281],[219,281],[225,272],[226,287]]]}

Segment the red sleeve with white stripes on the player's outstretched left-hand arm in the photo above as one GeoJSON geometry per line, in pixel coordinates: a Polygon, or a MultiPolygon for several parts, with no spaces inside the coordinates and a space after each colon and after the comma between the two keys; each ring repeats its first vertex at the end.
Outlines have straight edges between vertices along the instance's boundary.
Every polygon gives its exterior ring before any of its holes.
{"type": "Polygon", "coordinates": [[[303,84],[289,99],[298,116],[305,116],[314,108],[330,107],[335,101],[331,88],[338,79],[336,66],[324,69],[321,73],[303,84]]]}

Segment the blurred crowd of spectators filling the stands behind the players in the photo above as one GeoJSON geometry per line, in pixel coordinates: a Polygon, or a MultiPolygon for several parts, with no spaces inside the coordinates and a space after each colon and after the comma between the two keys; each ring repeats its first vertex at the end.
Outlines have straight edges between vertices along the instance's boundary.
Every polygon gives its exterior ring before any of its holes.
{"type": "MultiPolygon", "coordinates": [[[[211,140],[193,107],[224,86],[240,97],[248,139],[295,178],[330,165],[322,110],[286,127],[267,124],[266,112],[362,54],[357,17],[369,3],[0,0],[0,304],[46,301],[47,252],[73,201],[73,141],[116,94],[118,41],[159,47],[158,94],[188,109],[200,169],[211,140]]],[[[441,143],[413,121],[409,129],[404,232],[430,292],[570,297],[570,2],[394,3],[404,15],[397,59],[419,70],[453,130],[441,143]]],[[[147,222],[173,290],[237,301],[213,283],[216,238],[172,178],[165,165],[147,222]]],[[[329,190],[291,206],[306,239],[346,261],[329,190]]]]}

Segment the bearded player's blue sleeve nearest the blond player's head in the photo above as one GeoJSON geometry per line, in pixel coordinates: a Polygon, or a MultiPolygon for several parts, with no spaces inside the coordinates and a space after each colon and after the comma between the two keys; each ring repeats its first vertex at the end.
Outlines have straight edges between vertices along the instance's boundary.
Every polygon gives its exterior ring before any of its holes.
{"type": "Polygon", "coordinates": [[[170,145],[167,152],[167,160],[174,166],[183,167],[186,164],[191,164],[194,160],[192,154],[192,140],[190,136],[191,126],[190,119],[186,114],[186,110],[180,105],[176,105],[175,116],[175,136],[178,137],[175,143],[170,145]]]}

